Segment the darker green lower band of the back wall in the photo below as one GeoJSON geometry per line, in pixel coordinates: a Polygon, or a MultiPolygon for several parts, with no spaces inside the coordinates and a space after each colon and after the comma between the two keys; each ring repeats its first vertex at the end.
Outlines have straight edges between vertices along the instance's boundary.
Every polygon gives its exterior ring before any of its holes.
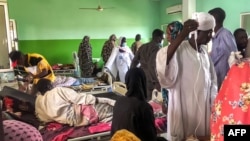
{"type": "MultiPolygon", "coordinates": [[[[100,58],[102,45],[106,39],[92,39],[92,56],[93,58],[100,58]]],[[[127,39],[127,44],[130,46],[134,39],[127,39]]],[[[143,39],[144,41],[144,39],[143,39]]],[[[78,50],[81,39],[68,39],[68,40],[21,40],[19,46],[21,51],[25,53],[39,52],[47,58],[50,64],[73,63],[72,53],[78,50]]],[[[103,64],[102,60],[99,66],[103,64]]]]}

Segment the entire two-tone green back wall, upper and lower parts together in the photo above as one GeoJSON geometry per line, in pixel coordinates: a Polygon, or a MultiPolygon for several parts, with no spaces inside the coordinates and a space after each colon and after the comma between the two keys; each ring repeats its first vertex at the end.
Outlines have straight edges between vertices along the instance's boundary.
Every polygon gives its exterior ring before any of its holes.
{"type": "Polygon", "coordinates": [[[114,7],[102,12],[79,9],[97,7],[98,0],[7,2],[9,17],[16,20],[19,50],[40,53],[50,64],[71,63],[84,35],[91,38],[93,57],[100,57],[104,41],[113,33],[129,42],[140,33],[146,42],[153,29],[160,28],[159,1],[101,0],[103,7],[114,7]]]}

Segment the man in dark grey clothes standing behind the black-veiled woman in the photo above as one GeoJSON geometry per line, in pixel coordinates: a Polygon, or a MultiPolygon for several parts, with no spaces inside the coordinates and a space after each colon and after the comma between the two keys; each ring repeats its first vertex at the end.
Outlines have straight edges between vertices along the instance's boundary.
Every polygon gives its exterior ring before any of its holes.
{"type": "Polygon", "coordinates": [[[152,91],[156,88],[160,91],[160,84],[156,75],[155,58],[156,53],[162,47],[161,42],[164,39],[164,32],[160,29],[155,29],[152,33],[152,40],[149,43],[143,44],[131,63],[131,68],[137,67],[140,63],[141,68],[146,74],[147,79],[147,100],[151,100],[152,91]]]}

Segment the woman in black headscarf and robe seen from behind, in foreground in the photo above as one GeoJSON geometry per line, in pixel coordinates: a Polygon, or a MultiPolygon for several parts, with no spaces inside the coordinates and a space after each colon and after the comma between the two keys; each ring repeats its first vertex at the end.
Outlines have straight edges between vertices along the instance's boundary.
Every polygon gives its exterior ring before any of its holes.
{"type": "Polygon", "coordinates": [[[142,141],[156,141],[153,109],[146,101],[145,73],[141,68],[131,68],[126,74],[125,83],[128,91],[115,103],[111,135],[126,129],[142,141]]]}

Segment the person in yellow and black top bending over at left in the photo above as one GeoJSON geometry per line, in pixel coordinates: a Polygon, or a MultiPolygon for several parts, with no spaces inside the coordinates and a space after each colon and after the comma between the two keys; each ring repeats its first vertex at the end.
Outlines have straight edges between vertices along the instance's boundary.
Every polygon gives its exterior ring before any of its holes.
{"type": "Polygon", "coordinates": [[[20,51],[12,51],[9,53],[9,57],[12,61],[12,66],[24,67],[25,71],[28,72],[26,79],[28,81],[33,81],[33,87],[31,94],[35,94],[36,83],[40,78],[49,79],[51,82],[55,80],[54,72],[48,63],[48,61],[40,54],[28,53],[23,54],[20,51]]]}

